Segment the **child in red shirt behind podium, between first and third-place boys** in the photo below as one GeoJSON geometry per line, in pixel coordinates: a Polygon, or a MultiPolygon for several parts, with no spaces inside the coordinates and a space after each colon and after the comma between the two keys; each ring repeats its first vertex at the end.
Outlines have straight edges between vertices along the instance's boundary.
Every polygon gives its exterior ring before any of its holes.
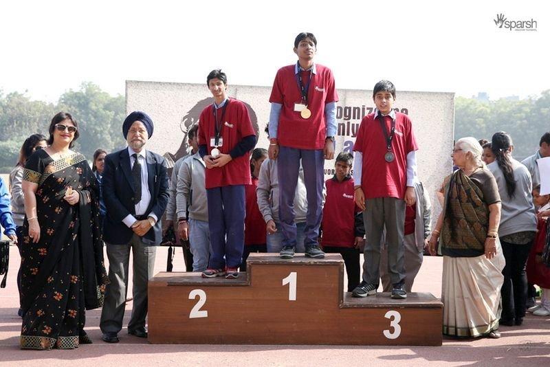
{"type": "Polygon", "coordinates": [[[359,285],[360,249],[364,244],[363,214],[355,205],[354,182],[351,177],[353,155],[340,153],[336,157],[336,175],[325,181],[327,198],[322,212],[322,249],[342,255],[348,276],[348,291],[359,285]]]}

